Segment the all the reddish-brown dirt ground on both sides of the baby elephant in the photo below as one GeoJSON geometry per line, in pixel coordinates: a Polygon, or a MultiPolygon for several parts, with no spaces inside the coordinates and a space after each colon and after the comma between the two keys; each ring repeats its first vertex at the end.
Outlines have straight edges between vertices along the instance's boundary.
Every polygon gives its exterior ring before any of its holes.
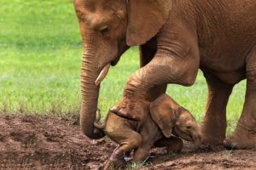
{"type": "MultiPolygon", "coordinates": [[[[0,169],[97,169],[116,144],[109,139],[86,139],[72,117],[0,117],[0,169]]],[[[256,169],[256,150],[224,150],[202,146],[189,152],[154,158],[140,169],[256,169]]]]}

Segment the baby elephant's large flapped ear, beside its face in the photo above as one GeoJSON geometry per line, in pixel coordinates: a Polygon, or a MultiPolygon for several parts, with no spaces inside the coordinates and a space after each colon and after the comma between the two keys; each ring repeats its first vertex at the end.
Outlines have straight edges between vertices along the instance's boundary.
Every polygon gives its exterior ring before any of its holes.
{"type": "Polygon", "coordinates": [[[170,99],[168,95],[163,94],[150,104],[151,118],[160,127],[166,138],[170,138],[172,135],[172,117],[175,114],[172,105],[170,105],[170,101],[172,101],[170,99]]]}

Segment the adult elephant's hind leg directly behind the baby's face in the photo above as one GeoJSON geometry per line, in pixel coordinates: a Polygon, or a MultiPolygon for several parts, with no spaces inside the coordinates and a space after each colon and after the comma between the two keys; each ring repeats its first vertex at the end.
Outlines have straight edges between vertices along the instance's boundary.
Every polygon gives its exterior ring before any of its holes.
{"type": "Polygon", "coordinates": [[[201,122],[202,142],[223,144],[226,133],[226,106],[233,85],[220,81],[212,74],[204,73],[208,86],[207,107],[201,122]]]}

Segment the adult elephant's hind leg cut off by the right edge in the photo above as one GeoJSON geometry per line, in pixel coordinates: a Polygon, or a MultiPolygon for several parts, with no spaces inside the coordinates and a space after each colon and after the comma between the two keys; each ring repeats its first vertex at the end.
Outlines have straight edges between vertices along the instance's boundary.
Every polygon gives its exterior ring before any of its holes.
{"type": "Polygon", "coordinates": [[[247,91],[241,117],[232,135],[224,141],[227,148],[256,147],[256,46],[247,55],[247,91]]]}

